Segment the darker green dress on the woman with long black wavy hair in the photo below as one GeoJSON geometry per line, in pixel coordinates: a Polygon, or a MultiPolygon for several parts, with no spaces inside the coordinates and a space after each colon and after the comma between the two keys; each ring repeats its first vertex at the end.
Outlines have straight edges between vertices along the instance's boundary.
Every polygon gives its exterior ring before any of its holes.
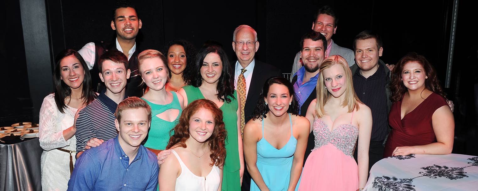
{"type": "MultiPolygon", "coordinates": [[[[200,99],[206,99],[201,90],[192,85],[183,87],[187,96],[187,104],[200,99]]],[[[234,90],[234,97],[237,98],[237,92],[234,90]]],[[[224,102],[219,108],[223,113],[223,121],[228,131],[226,139],[226,160],[224,162],[224,170],[222,177],[223,191],[239,191],[240,190],[240,163],[239,163],[239,145],[238,145],[238,101],[231,99],[231,102],[224,102]]]]}

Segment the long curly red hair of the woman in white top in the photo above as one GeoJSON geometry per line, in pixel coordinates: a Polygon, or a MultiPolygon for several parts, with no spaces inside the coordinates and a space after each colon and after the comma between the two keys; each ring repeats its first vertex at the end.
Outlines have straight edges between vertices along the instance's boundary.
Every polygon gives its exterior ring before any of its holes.
{"type": "MultiPolygon", "coordinates": [[[[196,114],[200,109],[206,109],[211,111],[214,118],[214,130],[211,137],[207,139],[211,154],[211,163],[209,165],[216,165],[218,167],[224,165],[226,159],[225,140],[227,137],[227,131],[222,121],[222,111],[217,108],[217,105],[209,100],[202,99],[191,102],[179,117],[178,124],[174,127],[174,135],[169,138],[169,143],[166,149],[170,149],[173,146],[179,146],[186,148],[186,140],[189,139],[189,119],[196,114]]],[[[171,131],[173,131],[171,130],[171,131]]]]}

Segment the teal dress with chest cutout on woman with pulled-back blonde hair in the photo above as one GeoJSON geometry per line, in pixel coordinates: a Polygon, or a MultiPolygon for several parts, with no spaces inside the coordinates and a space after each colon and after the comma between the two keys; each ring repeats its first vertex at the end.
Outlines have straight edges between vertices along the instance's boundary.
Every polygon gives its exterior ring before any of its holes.
{"type": "Polygon", "coordinates": [[[169,137],[171,137],[171,135],[174,134],[174,131],[171,131],[171,130],[174,128],[174,126],[178,122],[178,119],[181,116],[181,112],[183,112],[183,109],[181,109],[181,104],[179,103],[176,92],[171,91],[171,93],[173,94],[173,101],[171,101],[171,103],[166,105],[154,104],[152,102],[149,102],[141,98],[142,100],[146,101],[148,105],[150,105],[151,115],[152,115],[151,128],[150,128],[150,131],[148,132],[148,137],[146,138],[146,142],[144,143],[145,147],[155,149],[155,150],[164,150],[166,149],[166,146],[168,145],[169,137]],[[176,120],[170,122],[170,121],[165,121],[156,116],[169,109],[179,110],[179,114],[176,117],[176,120]],[[170,131],[171,131],[171,134],[170,134],[170,131]]]}

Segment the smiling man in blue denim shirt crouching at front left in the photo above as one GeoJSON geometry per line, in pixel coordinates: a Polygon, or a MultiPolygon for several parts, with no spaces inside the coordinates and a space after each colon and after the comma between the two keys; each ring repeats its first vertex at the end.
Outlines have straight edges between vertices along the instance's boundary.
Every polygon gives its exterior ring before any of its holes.
{"type": "Polygon", "coordinates": [[[118,136],[76,160],[68,191],[156,191],[158,161],[141,145],[150,127],[150,106],[130,97],[118,104],[115,116],[118,136]]]}

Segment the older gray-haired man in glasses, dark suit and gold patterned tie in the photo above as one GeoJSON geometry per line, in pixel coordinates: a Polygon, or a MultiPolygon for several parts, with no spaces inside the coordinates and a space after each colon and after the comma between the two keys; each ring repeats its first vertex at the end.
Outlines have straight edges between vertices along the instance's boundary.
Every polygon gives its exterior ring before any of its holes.
{"type": "MultiPolygon", "coordinates": [[[[234,85],[241,99],[241,136],[245,123],[252,118],[252,113],[260,99],[264,82],[282,73],[276,67],[254,59],[259,49],[257,32],[248,25],[240,25],[234,30],[232,49],[236,52],[237,60],[234,65],[234,85]]],[[[242,191],[250,190],[250,175],[244,172],[242,191]]]]}

